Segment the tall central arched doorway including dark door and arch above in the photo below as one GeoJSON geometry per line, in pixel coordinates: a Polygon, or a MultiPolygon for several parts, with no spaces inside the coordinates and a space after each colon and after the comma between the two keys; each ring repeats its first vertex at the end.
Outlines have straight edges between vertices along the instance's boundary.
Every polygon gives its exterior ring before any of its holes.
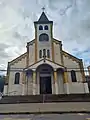
{"type": "Polygon", "coordinates": [[[37,68],[39,73],[40,94],[52,94],[53,68],[48,64],[42,64],[37,68]]]}

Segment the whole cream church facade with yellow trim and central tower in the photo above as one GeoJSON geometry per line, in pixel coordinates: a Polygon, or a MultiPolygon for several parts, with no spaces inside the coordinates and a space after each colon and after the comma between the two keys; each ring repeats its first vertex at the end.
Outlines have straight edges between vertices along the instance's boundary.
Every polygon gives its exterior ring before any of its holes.
{"type": "Polygon", "coordinates": [[[53,38],[53,21],[42,12],[34,26],[27,52],[8,62],[4,94],[88,93],[82,59],[62,50],[62,42],[53,38]]]}

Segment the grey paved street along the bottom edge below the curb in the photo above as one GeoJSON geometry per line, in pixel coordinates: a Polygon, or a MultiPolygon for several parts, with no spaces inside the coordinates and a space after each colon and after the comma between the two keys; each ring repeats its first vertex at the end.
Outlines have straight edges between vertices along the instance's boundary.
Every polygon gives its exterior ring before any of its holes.
{"type": "Polygon", "coordinates": [[[90,120],[90,114],[0,115],[0,120],[90,120]]]}

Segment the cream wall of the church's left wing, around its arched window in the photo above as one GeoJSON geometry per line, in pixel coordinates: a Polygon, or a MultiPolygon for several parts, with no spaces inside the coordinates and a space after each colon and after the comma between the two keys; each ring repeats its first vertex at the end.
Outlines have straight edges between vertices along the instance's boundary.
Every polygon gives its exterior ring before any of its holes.
{"type": "Polygon", "coordinates": [[[26,67],[26,56],[19,60],[18,62],[10,65],[10,69],[16,69],[16,71],[10,71],[9,74],[9,83],[8,83],[8,94],[16,94],[21,95],[22,94],[22,81],[23,81],[23,75],[22,72],[18,71],[18,68],[25,68],[26,67]],[[15,81],[15,73],[20,73],[20,84],[14,84],[15,81]],[[14,92],[16,91],[16,93],[14,92]]]}

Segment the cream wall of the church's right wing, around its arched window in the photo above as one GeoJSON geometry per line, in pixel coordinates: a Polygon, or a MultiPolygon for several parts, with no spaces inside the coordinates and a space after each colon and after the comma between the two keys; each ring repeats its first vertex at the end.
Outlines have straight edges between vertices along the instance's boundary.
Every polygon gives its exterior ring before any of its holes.
{"type": "Polygon", "coordinates": [[[67,67],[67,71],[68,71],[69,93],[86,93],[85,86],[82,83],[83,78],[82,78],[82,74],[80,72],[79,64],[76,61],[74,61],[66,56],[63,56],[63,59],[64,59],[64,66],[67,67]],[[76,71],[77,82],[72,82],[71,70],[76,71]]]}

